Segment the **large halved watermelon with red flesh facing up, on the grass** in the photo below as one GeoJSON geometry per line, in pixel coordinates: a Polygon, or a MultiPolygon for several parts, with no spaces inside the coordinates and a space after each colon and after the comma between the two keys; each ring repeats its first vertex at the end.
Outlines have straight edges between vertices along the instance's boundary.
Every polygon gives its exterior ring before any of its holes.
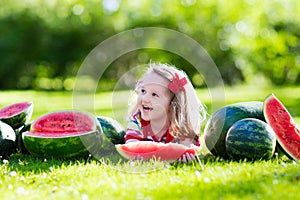
{"type": "Polygon", "coordinates": [[[22,134],[25,148],[41,157],[82,157],[100,151],[101,127],[95,117],[82,111],[59,111],[38,118],[22,134]]]}

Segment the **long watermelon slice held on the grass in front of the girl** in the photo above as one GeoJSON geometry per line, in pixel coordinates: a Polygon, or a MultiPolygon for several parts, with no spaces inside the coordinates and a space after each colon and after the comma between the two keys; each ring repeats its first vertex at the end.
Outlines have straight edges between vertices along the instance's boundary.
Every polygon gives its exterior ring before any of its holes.
{"type": "Polygon", "coordinates": [[[131,142],[115,146],[117,151],[127,159],[157,159],[170,162],[178,160],[185,153],[196,155],[201,149],[201,147],[198,146],[187,147],[182,144],[164,144],[151,141],[131,142]]]}

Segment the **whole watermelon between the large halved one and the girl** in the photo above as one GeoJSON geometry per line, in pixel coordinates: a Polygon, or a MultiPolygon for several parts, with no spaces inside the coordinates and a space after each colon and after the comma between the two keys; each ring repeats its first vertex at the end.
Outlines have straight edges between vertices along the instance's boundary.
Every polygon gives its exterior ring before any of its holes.
{"type": "Polygon", "coordinates": [[[107,116],[97,116],[96,119],[103,132],[101,155],[116,153],[115,144],[124,144],[124,127],[117,120],[107,116]]]}

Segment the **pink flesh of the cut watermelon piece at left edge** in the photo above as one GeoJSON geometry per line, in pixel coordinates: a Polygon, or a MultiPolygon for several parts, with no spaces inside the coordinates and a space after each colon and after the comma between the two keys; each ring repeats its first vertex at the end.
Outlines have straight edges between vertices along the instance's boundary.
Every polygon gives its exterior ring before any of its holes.
{"type": "Polygon", "coordinates": [[[4,107],[0,110],[0,118],[9,118],[9,117],[15,116],[15,115],[23,112],[25,109],[27,109],[31,105],[32,105],[32,102],[20,102],[20,103],[15,103],[10,106],[4,107]]]}

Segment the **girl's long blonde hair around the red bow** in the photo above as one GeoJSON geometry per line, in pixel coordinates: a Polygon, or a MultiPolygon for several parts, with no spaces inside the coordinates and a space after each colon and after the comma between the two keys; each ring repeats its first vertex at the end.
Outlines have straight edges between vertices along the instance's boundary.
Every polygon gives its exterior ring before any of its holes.
{"type": "MultiPolygon", "coordinates": [[[[179,90],[170,103],[170,133],[178,139],[194,138],[200,134],[200,125],[206,118],[206,109],[197,97],[196,91],[188,76],[174,66],[162,63],[150,63],[145,74],[154,72],[168,81],[172,81],[175,74],[179,78],[185,77],[187,84],[184,91],[179,90]]],[[[135,109],[131,110],[133,114],[135,109]]]]}

